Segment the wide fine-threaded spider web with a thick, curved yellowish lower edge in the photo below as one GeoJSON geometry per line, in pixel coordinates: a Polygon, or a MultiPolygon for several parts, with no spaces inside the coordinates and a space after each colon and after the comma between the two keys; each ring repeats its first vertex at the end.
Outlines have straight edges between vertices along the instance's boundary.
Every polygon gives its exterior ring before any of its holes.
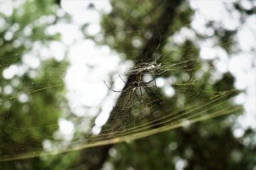
{"type": "MultiPolygon", "coordinates": [[[[185,28],[188,28],[188,26],[185,26],[185,28]]],[[[154,27],[132,32],[124,30],[124,33],[127,34],[126,37],[137,36],[137,38],[142,38],[146,31],[159,31],[159,29],[154,27]]],[[[114,30],[112,33],[118,34],[120,31],[114,30]]],[[[38,47],[43,46],[46,49],[48,40],[55,38],[42,34],[34,35],[41,40],[41,42],[38,42],[38,47]]],[[[104,36],[107,35],[110,34],[105,34],[104,36]]],[[[159,35],[159,40],[163,36],[165,35],[159,35]]],[[[230,33],[230,35],[225,35],[225,38],[230,39],[231,36],[230,33]]],[[[214,40],[214,42],[215,45],[219,43],[218,40],[214,40]]],[[[26,67],[26,72],[17,73],[16,77],[11,81],[1,77],[1,87],[4,88],[5,94],[1,95],[0,108],[0,160],[26,159],[43,154],[55,154],[135,140],[166,130],[182,126],[186,127],[201,120],[236,113],[240,110],[239,107],[230,104],[230,98],[238,94],[238,91],[235,91],[235,89],[215,91],[210,87],[209,89],[207,88],[207,84],[210,82],[210,75],[218,72],[214,67],[213,60],[200,60],[197,57],[189,57],[191,52],[199,54],[199,47],[187,45],[184,49],[178,48],[178,51],[176,51],[176,47],[169,47],[170,43],[172,42],[167,39],[159,42],[157,46],[163,44],[165,48],[163,47],[162,52],[158,48],[152,50],[153,55],[156,55],[154,60],[144,61],[137,59],[134,62],[135,65],[130,67],[131,69],[126,69],[122,73],[114,72],[109,74],[106,83],[111,89],[117,87],[118,90],[123,91],[122,93],[116,94],[114,91],[107,89],[107,86],[101,81],[101,87],[108,91],[107,96],[111,98],[112,94],[117,95],[113,97],[116,99],[114,105],[110,106],[111,104],[108,104],[112,111],[107,123],[100,127],[101,130],[98,134],[95,134],[91,130],[95,127],[95,117],[68,115],[68,120],[75,126],[72,139],[68,141],[55,137],[60,128],[60,125],[56,124],[55,120],[52,120],[52,122],[39,121],[43,115],[48,116],[50,113],[58,112],[54,106],[63,107],[62,103],[65,102],[53,99],[55,97],[50,97],[50,94],[58,90],[60,92],[57,96],[63,98],[62,91],[65,89],[63,75],[65,75],[68,63],[56,62],[56,60],[48,59],[47,57],[44,58],[41,54],[35,53],[38,51],[34,51],[32,55],[36,54],[35,56],[41,62],[38,67],[26,67]],[[181,55],[186,55],[187,57],[182,58],[180,57],[181,55]],[[136,78],[138,74],[142,74],[142,82],[148,82],[153,78],[156,81],[151,81],[151,83],[145,84],[141,88],[131,85],[125,87],[126,84],[118,77],[118,74],[127,84],[134,84],[134,81],[138,81],[136,78]],[[112,79],[113,77],[114,80],[112,79]],[[131,81],[130,77],[135,78],[131,81]],[[117,81],[123,84],[123,90],[122,86],[113,86],[117,81]],[[17,84],[19,83],[22,86],[18,86],[17,84]],[[40,93],[46,94],[46,98],[41,98],[40,93]],[[56,104],[53,107],[46,108],[42,113],[33,109],[33,104],[43,103],[41,100],[49,100],[49,103],[54,101],[56,104]],[[30,103],[29,106],[31,108],[25,112],[28,108],[28,103],[30,103]],[[18,111],[18,109],[20,110],[18,111]],[[26,114],[24,115],[24,113],[26,114]],[[38,120],[33,120],[34,118],[38,120]],[[26,121],[17,123],[15,119],[17,121],[26,121]],[[33,121],[36,123],[33,123],[33,121]],[[27,124],[32,124],[34,127],[27,127],[27,124]],[[87,130],[84,130],[85,127],[87,127],[87,130]],[[43,143],[46,141],[50,141],[52,146],[50,149],[43,148],[43,143]]],[[[184,43],[181,44],[183,45],[184,43]]],[[[112,45],[112,47],[117,47],[119,52],[126,52],[128,56],[134,54],[143,55],[142,47],[138,47],[136,50],[124,50],[124,47],[118,43],[112,45]]],[[[235,50],[230,50],[229,45],[224,45],[222,48],[228,55],[235,53],[235,50]]],[[[150,53],[149,51],[146,52],[150,53]]],[[[28,51],[14,51],[10,55],[1,57],[1,72],[6,72],[5,70],[10,67],[15,69],[23,68],[24,63],[17,63],[16,61],[26,55],[31,55],[31,53],[28,51]]],[[[218,81],[218,79],[213,79],[212,81],[218,81]]],[[[102,100],[102,103],[104,104],[106,100],[102,100]]],[[[104,109],[102,103],[97,106],[98,112],[104,109]]],[[[65,112],[65,109],[70,108],[62,108],[63,112],[65,112]]],[[[61,113],[57,115],[61,115],[61,113]]]]}

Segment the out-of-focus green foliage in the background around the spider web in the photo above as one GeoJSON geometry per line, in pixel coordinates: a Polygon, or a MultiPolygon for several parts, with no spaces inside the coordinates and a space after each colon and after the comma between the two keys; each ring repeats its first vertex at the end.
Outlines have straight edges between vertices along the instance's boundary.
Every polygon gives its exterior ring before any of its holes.
{"type": "MultiPolygon", "coordinates": [[[[166,32],[163,33],[161,31],[164,28],[159,27],[159,23],[163,21],[159,21],[159,17],[161,17],[168,3],[169,1],[113,0],[113,11],[102,18],[105,38],[100,42],[97,41],[97,38],[92,37],[91,39],[95,40],[98,45],[108,45],[113,50],[121,52],[125,56],[124,61],[132,60],[137,63],[141,61],[142,55],[144,55],[142,47],[147,47],[146,45],[150,43],[145,38],[146,34],[154,35],[155,31],[159,33],[156,37],[160,38],[160,41],[155,42],[156,48],[149,46],[146,52],[157,53],[160,56],[160,62],[166,61],[162,60],[161,57],[163,56],[169,58],[167,60],[169,63],[165,64],[185,60],[197,61],[199,47],[195,40],[186,40],[183,44],[176,45],[174,50],[170,52],[169,45],[173,42],[169,42],[169,38],[181,30],[183,26],[191,28],[189,23],[191,16],[193,16],[193,11],[189,8],[187,1],[183,1],[181,4],[178,2],[175,6],[176,11],[173,11],[174,15],[170,21],[171,26],[164,27],[166,32]],[[123,24],[120,26],[120,23],[123,24]],[[129,36],[125,35],[126,33],[129,36]],[[138,47],[136,48],[132,45],[134,39],[142,42],[139,50],[138,47]]],[[[239,4],[235,4],[235,7],[240,13],[251,14],[250,11],[242,9],[239,4]]],[[[59,35],[48,35],[43,38],[40,36],[45,35],[45,29],[49,24],[54,24],[60,19],[56,16],[56,11],[60,7],[53,4],[53,1],[26,1],[21,8],[14,8],[12,16],[1,14],[6,22],[5,27],[1,29],[1,37],[4,37],[18,23],[18,30],[14,32],[14,38],[11,38],[11,40],[0,39],[0,42],[3,42],[0,48],[1,72],[12,64],[22,64],[21,52],[29,52],[33,43],[41,41],[42,47],[47,47],[52,40],[60,40],[59,35]],[[43,18],[47,17],[53,17],[54,19],[50,23],[41,22],[44,21],[43,18]],[[26,35],[24,33],[26,29],[31,29],[31,33],[26,35]],[[20,40],[20,45],[17,47],[15,45],[16,40],[20,40]]],[[[235,33],[221,30],[223,34],[218,34],[220,32],[218,29],[220,28],[214,28],[214,36],[220,40],[219,45],[228,52],[232,51],[233,35],[235,33]]],[[[206,38],[202,35],[197,37],[198,40],[206,38]]],[[[189,69],[192,71],[189,71],[188,74],[193,77],[195,73],[193,69],[199,68],[203,64],[190,63],[189,69]]],[[[210,62],[208,64],[211,65],[210,62]]],[[[38,127],[57,124],[58,118],[63,114],[64,110],[60,106],[67,104],[62,80],[67,65],[65,61],[44,60],[40,67],[31,69],[33,72],[37,72],[38,77],[36,78],[31,77],[29,72],[12,79],[5,79],[1,74],[1,89],[11,85],[13,92],[11,94],[1,93],[0,128],[4,129],[6,125],[9,125],[9,127],[24,128],[26,130],[26,128],[34,125],[35,122],[38,127]],[[14,81],[18,81],[18,86],[15,86],[14,81]],[[21,94],[26,94],[31,99],[25,101],[26,104],[24,104],[24,102],[17,99],[21,94]],[[13,105],[13,103],[16,104],[13,105]],[[33,114],[27,116],[28,113],[33,114]]],[[[166,68],[165,70],[167,70],[166,68]]],[[[188,67],[182,69],[188,70],[188,67]]],[[[234,78],[231,74],[227,73],[222,79],[209,85],[206,82],[209,81],[210,74],[211,72],[203,74],[203,77],[197,81],[198,88],[206,91],[233,89],[234,78]]],[[[159,75],[157,74],[156,78],[159,75]]],[[[171,75],[178,77],[179,74],[178,72],[176,74],[172,70],[167,70],[161,76],[170,77],[171,75]]],[[[177,81],[183,82],[183,79],[178,77],[177,81]]],[[[186,85],[188,86],[188,84],[186,85]]],[[[168,98],[164,96],[163,91],[158,93],[158,96],[168,98]]],[[[204,94],[205,96],[203,96],[203,94],[201,94],[201,98],[194,97],[192,98],[193,100],[186,101],[186,104],[188,106],[193,106],[195,103],[200,105],[205,102],[204,97],[210,98],[210,95],[204,94]]],[[[155,102],[160,103],[160,100],[155,102]]],[[[175,102],[173,101],[169,105],[176,106],[175,102]]],[[[227,108],[232,107],[230,102],[224,104],[227,108]]],[[[154,106],[158,105],[155,104],[154,106]]],[[[169,107],[170,111],[168,112],[173,111],[175,108],[169,107]]],[[[185,110],[188,110],[188,108],[185,108],[185,110]]],[[[219,109],[221,108],[216,107],[213,108],[213,111],[218,111],[219,109]]],[[[95,147],[75,152],[41,156],[34,159],[1,162],[0,166],[4,169],[89,169],[88,167],[100,167],[105,162],[105,167],[108,164],[112,164],[113,169],[252,169],[256,166],[256,148],[252,140],[254,131],[249,129],[240,138],[233,136],[233,126],[239,113],[242,113],[242,109],[237,110],[237,113],[233,115],[210,119],[192,125],[184,124],[182,128],[151,135],[139,140],[122,142],[107,147],[95,147]],[[250,139],[250,142],[245,144],[244,141],[247,139],[250,139]],[[108,154],[106,154],[107,152],[108,154]],[[100,160],[96,161],[96,159],[100,160]],[[93,166],[93,164],[97,164],[97,166],[93,166]]],[[[57,130],[58,126],[53,126],[52,128],[57,130]]],[[[154,126],[151,128],[154,128],[154,126]]],[[[5,137],[6,139],[13,138],[16,141],[23,139],[24,136],[15,133],[15,130],[11,136],[9,132],[1,131],[0,154],[5,154],[6,151],[19,147],[21,147],[21,150],[25,149],[33,152],[33,148],[41,145],[42,139],[39,134],[44,133],[43,130],[41,128],[38,131],[35,129],[33,132],[27,132],[27,143],[31,144],[28,146],[12,145],[8,143],[9,140],[3,140],[5,137]]],[[[46,130],[45,132],[47,133],[48,131],[46,130]]]]}

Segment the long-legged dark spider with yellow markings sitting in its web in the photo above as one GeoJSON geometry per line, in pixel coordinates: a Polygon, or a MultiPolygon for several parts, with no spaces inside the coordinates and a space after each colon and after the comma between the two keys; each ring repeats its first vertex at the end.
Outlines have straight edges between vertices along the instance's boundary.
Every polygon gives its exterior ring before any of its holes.
{"type": "MultiPolygon", "coordinates": [[[[122,77],[121,77],[119,74],[118,74],[118,76],[120,77],[120,79],[122,79],[122,77]]],[[[132,89],[132,93],[130,94],[129,99],[128,99],[127,103],[125,104],[124,108],[128,105],[129,101],[131,101],[131,98],[132,98],[132,94],[133,94],[133,93],[135,94],[135,96],[137,97],[137,99],[138,99],[138,101],[139,101],[140,103],[144,103],[144,96],[143,96],[143,94],[142,94],[142,88],[143,88],[146,92],[150,93],[150,91],[146,89],[145,85],[146,85],[146,84],[150,84],[152,81],[154,81],[154,82],[155,82],[155,85],[156,85],[156,79],[154,79],[154,77],[153,77],[150,81],[143,82],[143,81],[142,81],[142,74],[141,74],[141,73],[137,74],[135,81],[133,81],[133,82],[131,82],[131,83],[125,82],[124,79],[122,79],[122,81],[124,82],[124,84],[127,84],[127,86],[128,86],[127,89],[132,89]],[[138,96],[138,94],[137,94],[137,92],[136,92],[136,89],[137,89],[137,88],[139,88],[140,95],[141,95],[141,99],[139,98],[139,96],[138,96]]],[[[104,81],[104,83],[105,83],[105,85],[107,86],[107,84],[106,84],[105,81],[104,81]]],[[[109,86],[107,86],[107,88],[110,89],[111,91],[119,92],[119,93],[122,93],[122,92],[127,91],[127,89],[124,89],[123,91],[116,91],[116,90],[111,89],[109,86]]]]}

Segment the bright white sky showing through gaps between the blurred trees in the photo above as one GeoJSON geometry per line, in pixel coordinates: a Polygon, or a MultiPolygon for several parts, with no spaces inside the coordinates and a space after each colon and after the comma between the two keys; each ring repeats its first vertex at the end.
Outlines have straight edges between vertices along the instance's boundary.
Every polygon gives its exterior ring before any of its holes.
{"type": "MultiPolygon", "coordinates": [[[[2,7],[0,11],[11,15],[12,8],[10,6],[12,3],[4,2],[6,8],[2,7]]],[[[235,98],[236,103],[242,103],[245,106],[245,113],[239,116],[238,125],[234,129],[235,137],[240,137],[243,135],[245,128],[256,128],[256,59],[255,54],[251,52],[256,47],[255,15],[245,18],[245,23],[240,25],[238,22],[240,13],[232,10],[228,2],[190,1],[190,5],[191,8],[196,10],[192,27],[198,33],[206,35],[213,33],[213,30],[205,28],[206,21],[209,20],[218,21],[229,30],[239,30],[236,38],[242,52],[228,57],[223,50],[213,49],[210,43],[205,42],[201,44],[203,47],[201,57],[203,59],[216,59],[219,72],[231,72],[235,77],[235,88],[245,90],[244,93],[235,98]],[[227,8],[232,12],[227,11],[227,8]]],[[[245,8],[251,8],[251,4],[247,1],[241,1],[241,5],[245,8]]],[[[89,23],[90,25],[83,31],[92,36],[100,33],[100,13],[107,14],[112,11],[109,1],[62,1],[61,6],[63,11],[57,11],[58,15],[63,15],[63,12],[69,13],[72,16],[72,21],[71,23],[60,22],[55,26],[48,27],[46,30],[48,34],[61,33],[62,40],[61,42],[52,42],[50,51],[45,49],[42,50],[41,54],[43,56],[54,54],[56,60],[63,60],[63,51],[68,47],[70,67],[65,76],[65,82],[68,88],[69,105],[75,115],[88,117],[97,115],[100,108],[96,106],[102,106],[102,110],[95,120],[96,126],[93,128],[93,132],[97,134],[100,132],[100,127],[107,121],[112,106],[118,98],[117,93],[108,94],[108,89],[102,82],[103,80],[110,81],[110,73],[118,72],[122,74],[126,72],[132,67],[132,63],[122,61],[117,52],[111,50],[110,47],[98,46],[92,40],[87,40],[80,30],[82,25],[89,23]],[[88,9],[89,4],[94,4],[96,10],[88,9]]],[[[3,21],[0,19],[1,22],[3,21]]],[[[29,28],[27,28],[26,33],[29,33],[29,28]]],[[[188,33],[186,28],[183,29],[183,33],[188,33]]],[[[176,41],[183,40],[182,37],[179,37],[182,35],[176,35],[174,39],[176,41]]],[[[10,39],[11,36],[10,32],[8,35],[6,34],[5,39],[10,39]]],[[[100,38],[100,35],[98,36],[100,38]]],[[[39,44],[36,47],[40,48],[41,46],[39,44]]],[[[40,64],[33,56],[33,54],[23,56],[23,62],[27,63],[29,67],[36,67],[40,64]]],[[[14,66],[6,69],[3,74],[6,79],[11,79],[18,72],[19,68],[14,66]]],[[[124,85],[118,79],[118,77],[114,77],[114,89],[122,89],[124,85]]],[[[161,79],[158,84],[161,84],[160,81],[161,79]]],[[[72,134],[74,128],[72,123],[63,118],[60,119],[59,123],[60,132],[68,133],[68,135],[72,134]]]]}

